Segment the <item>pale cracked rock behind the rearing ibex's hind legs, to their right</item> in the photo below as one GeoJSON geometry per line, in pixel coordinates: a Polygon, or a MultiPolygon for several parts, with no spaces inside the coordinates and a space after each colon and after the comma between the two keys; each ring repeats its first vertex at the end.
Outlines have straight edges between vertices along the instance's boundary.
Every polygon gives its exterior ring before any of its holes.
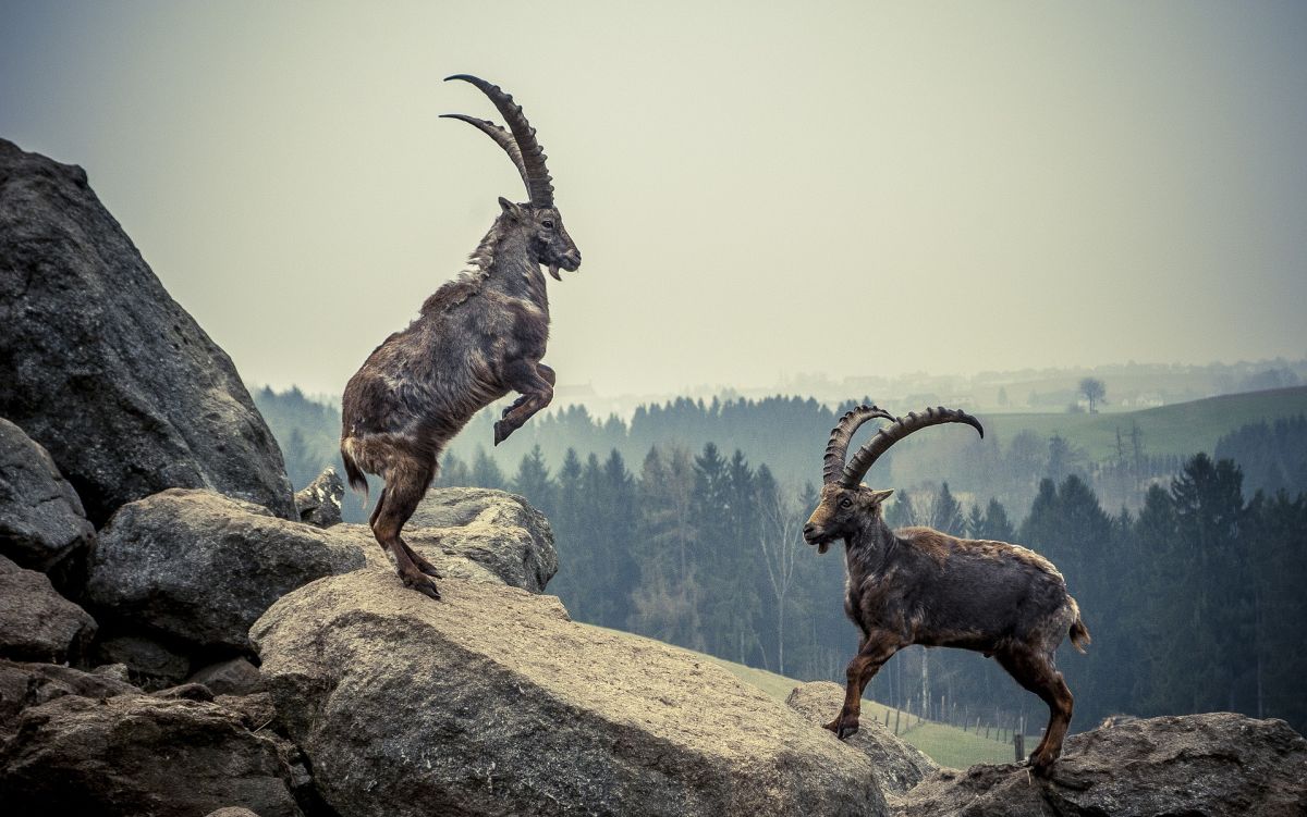
{"type": "Polygon", "coordinates": [[[471,559],[505,583],[532,593],[544,593],[558,572],[549,519],[514,493],[490,488],[427,491],[405,527],[410,531],[421,531],[429,547],[471,559]]]}

